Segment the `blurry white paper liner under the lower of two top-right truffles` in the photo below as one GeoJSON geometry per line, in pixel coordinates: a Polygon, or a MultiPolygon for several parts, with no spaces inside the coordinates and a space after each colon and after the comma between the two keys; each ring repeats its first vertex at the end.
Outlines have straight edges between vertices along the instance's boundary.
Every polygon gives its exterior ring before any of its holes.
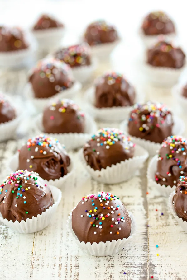
{"type": "Polygon", "coordinates": [[[186,63],[180,69],[169,67],[156,67],[146,62],[143,63],[143,71],[146,76],[146,80],[154,86],[170,87],[175,85],[181,73],[184,71],[186,63]]]}

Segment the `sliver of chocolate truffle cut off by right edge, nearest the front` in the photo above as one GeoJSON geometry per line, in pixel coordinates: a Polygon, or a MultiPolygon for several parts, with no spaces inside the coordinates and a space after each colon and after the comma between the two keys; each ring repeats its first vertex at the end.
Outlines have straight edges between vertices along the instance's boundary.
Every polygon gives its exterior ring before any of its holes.
{"type": "Polygon", "coordinates": [[[187,177],[180,176],[177,184],[173,205],[177,216],[187,222],[187,177]]]}

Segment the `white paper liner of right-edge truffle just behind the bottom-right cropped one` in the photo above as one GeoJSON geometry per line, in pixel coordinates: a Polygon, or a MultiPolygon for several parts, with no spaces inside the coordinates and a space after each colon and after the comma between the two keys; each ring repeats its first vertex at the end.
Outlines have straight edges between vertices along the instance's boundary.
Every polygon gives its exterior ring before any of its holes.
{"type": "Polygon", "coordinates": [[[157,184],[155,181],[155,173],[156,173],[156,168],[157,168],[157,159],[158,159],[158,155],[154,156],[149,165],[148,165],[148,169],[147,169],[147,183],[149,185],[149,187],[151,189],[157,189],[158,192],[161,194],[161,196],[164,197],[169,197],[170,193],[173,192],[173,190],[175,190],[176,186],[167,186],[165,187],[165,185],[161,185],[161,184],[157,184]]]}

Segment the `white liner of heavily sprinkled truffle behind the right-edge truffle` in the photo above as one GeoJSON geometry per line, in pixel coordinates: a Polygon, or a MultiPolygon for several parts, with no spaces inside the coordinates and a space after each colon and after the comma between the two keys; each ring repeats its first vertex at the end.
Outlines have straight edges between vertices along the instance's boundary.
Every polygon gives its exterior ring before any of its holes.
{"type": "MultiPolygon", "coordinates": [[[[174,126],[173,126],[172,134],[182,136],[182,134],[185,131],[184,121],[182,119],[176,117],[176,116],[173,116],[173,120],[174,120],[174,126]]],[[[146,149],[150,156],[155,156],[156,152],[160,149],[161,144],[160,143],[155,143],[155,142],[150,141],[150,140],[141,139],[139,137],[131,136],[128,133],[127,124],[128,124],[128,122],[126,120],[123,121],[120,124],[120,130],[124,131],[125,134],[129,135],[131,137],[133,143],[135,143],[137,145],[140,145],[141,147],[146,149]]]]}

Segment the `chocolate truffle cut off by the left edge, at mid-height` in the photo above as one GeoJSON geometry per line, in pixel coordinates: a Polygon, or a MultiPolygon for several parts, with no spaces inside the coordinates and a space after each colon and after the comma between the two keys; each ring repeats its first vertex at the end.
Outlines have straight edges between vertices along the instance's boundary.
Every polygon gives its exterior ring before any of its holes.
{"type": "Polygon", "coordinates": [[[5,99],[5,97],[2,94],[0,94],[0,124],[6,123],[15,118],[16,118],[15,109],[5,99]]]}

